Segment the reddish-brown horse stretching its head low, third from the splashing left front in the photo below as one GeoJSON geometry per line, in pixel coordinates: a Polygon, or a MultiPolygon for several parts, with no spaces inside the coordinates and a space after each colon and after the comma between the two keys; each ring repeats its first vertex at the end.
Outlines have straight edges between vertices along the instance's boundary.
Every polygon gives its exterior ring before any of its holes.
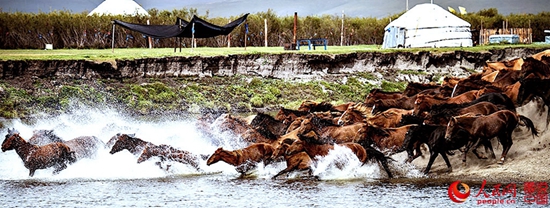
{"type": "Polygon", "coordinates": [[[220,147],[208,158],[206,165],[210,166],[221,160],[235,166],[237,172],[244,175],[255,168],[259,162],[263,162],[265,165],[269,164],[273,152],[273,146],[267,143],[255,143],[246,148],[233,151],[224,150],[220,147]]]}

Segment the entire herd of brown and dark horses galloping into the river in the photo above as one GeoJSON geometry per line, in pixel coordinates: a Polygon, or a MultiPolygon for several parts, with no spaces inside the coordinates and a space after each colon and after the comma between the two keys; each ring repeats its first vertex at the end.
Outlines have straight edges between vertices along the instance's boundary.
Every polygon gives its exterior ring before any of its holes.
{"type": "MultiPolygon", "coordinates": [[[[235,150],[216,149],[211,155],[197,155],[170,145],[155,145],[132,134],[116,134],[107,143],[94,136],[65,141],[53,130],[36,130],[25,141],[15,129],[8,129],[2,151],[15,150],[29,169],[54,167],[54,173],[82,158],[94,157],[101,148],[111,154],[127,150],[137,163],[157,157],[157,165],[168,170],[178,162],[200,170],[206,160],[210,166],[219,161],[235,166],[246,175],[259,163],[284,162],[286,168],[273,178],[293,171],[306,171],[338,145],[350,150],[361,164],[376,163],[388,177],[394,173],[393,154],[406,152],[406,162],[422,155],[428,147],[430,158],[424,169],[428,174],[441,155],[448,171],[447,155],[462,152],[462,161],[470,150],[480,159],[496,160],[493,138],[502,145],[504,164],[512,148],[512,133],[524,126],[535,138],[540,133],[531,119],[516,108],[534,99],[550,107],[550,54],[548,51],[527,58],[488,62],[481,73],[465,78],[447,77],[442,84],[409,83],[403,92],[370,91],[364,101],[333,105],[329,102],[304,101],[298,109],[281,107],[276,115],[257,113],[253,118],[210,112],[198,118],[196,127],[207,137],[228,131],[245,142],[235,150]],[[485,149],[485,154],[479,148],[485,149]],[[163,166],[165,165],[165,166],[163,166]]],[[[550,111],[549,111],[550,112],[550,111]]],[[[549,113],[550,114],[550,113],[549,113]]],[[[547,116],[547,123],[550,116],[547,116]]],[[[338,166],[339,168],[342,168],[338,166]]],[[[384,174],[382,173],[382,174],[384,174]]]]}

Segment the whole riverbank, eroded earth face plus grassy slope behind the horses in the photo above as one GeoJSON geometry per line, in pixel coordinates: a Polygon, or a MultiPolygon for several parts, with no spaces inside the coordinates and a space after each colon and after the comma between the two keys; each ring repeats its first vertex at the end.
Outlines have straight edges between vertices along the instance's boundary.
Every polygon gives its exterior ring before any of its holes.
{"type": "Polygon", "coordinates": [[[408,82],[466,77],[487,61],[546,48],[482,52],[395,51],[346,54],[240,54],[115,61],[2,60],[0,116],[64,112],[98,103],[129,114],[296,108],[304,100],[360,102],[373,88],[401,91],[408,82]]]}

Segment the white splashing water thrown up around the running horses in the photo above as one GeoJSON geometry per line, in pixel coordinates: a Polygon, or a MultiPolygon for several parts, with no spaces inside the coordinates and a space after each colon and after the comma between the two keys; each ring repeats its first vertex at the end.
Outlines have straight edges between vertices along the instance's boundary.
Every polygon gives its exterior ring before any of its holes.
{"type": "MultiPolygon", "coordinates": [[[[96,136],[103,142],[117,133],[132,134],[137,138],[150,141],[154,144],[168,144],[177,149],[189,151],[197,155],[210,155],[218,147],[234,150],[245,147],[245,143],[233,134],[214,129],[216,138],[210,138],[202,134],[197,128],[194,119],[184,115],[181,117],[139,119],[123,115],[121,112],[106,108],[97,109],[91,107],[79,107],[70,113],[58,116],[41,115],[32,123],[19,119],[7,121],[5,126],[15,128],[21,136],[28,140],[33,130],[53,129],[54,133],[65,140],[78,136],[96,136]]],[[[6,135],[3,129],[0,134],[6,135]]],[[[92,180],[118,180],[136,178],[159,178],[174,175],[201,175],[201,174],[226,174],[239,176],[235,167],[224,162],[218,162],[211,166],[206,161],[200,161],[200,171],[189,165],[170,163],[169,171],[161,170],[155,164],[158,161],[152,158],[138,164],[136,156],[124,150],[115,154],[109,154],[109,149],[100,150],[94,158],[85,158],[71,164],[67,169],[57,175],[52,175],[53,168],[37,170],[33,179],[64,180],[64,179],[92,179],[92,180]]],[[[395,162],[394,162],[395,163],[395,162]]],[[[0,153],[0,177],[5,180],[29,179],[28,170],[15,151],[0,153]]],[[[258,178],[271,178],[286,167],[284,162],[273,163],[267,166],[259,164],[252,175],[258,178]]],[[[319,158],[314,165],[314,175],[322,180],[340,180],[356,178],[381,178],[385,177],[380,172],[377,163],[361,162],[348,148],[335,146],[328,156],[319,158]],[[342,166],[338,168],[338,166],[342,166]]],[[[404,168],[414,169],[412,166],[404,168]]],[[[290,177],[296,173],[290,174],[290,177]]]]}

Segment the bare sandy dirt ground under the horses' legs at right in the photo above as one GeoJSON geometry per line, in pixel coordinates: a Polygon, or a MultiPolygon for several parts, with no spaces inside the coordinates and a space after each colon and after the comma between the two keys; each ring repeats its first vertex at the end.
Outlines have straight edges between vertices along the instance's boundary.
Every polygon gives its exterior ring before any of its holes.
{"type": "MultiPolygon", "coordinates": [[[[525,182],[525,181],[550,181],[550,131],[546,125],[546,108],[541,113],[539,103],[532,101],[525,106],[517,108],[518,113],[530,118],[537,129],[539,136],[533,138],[525,127],[518,127],[513,134],[514,144],[508,152],[503,165],[497,164],[494,159],[478,159],[471,151],[468,153],[466,164],[462,163],[462,153],[449,156],[452,172],[447,172],[447,166],[443,158],[439,156],[428,177],[453,178],[455,180],[473,180],[488,182],[525,182]]],[[[500,158],[502,146],[493,139],[493,148],[497,159],[500,158]]],[[[483,152],[483,148],[481,148],[483,152]]],[[[423,158],[417,158],[413,164],[420,170],[424,170],[429,160],[429,152],[424,152],[423,158]]]]}

